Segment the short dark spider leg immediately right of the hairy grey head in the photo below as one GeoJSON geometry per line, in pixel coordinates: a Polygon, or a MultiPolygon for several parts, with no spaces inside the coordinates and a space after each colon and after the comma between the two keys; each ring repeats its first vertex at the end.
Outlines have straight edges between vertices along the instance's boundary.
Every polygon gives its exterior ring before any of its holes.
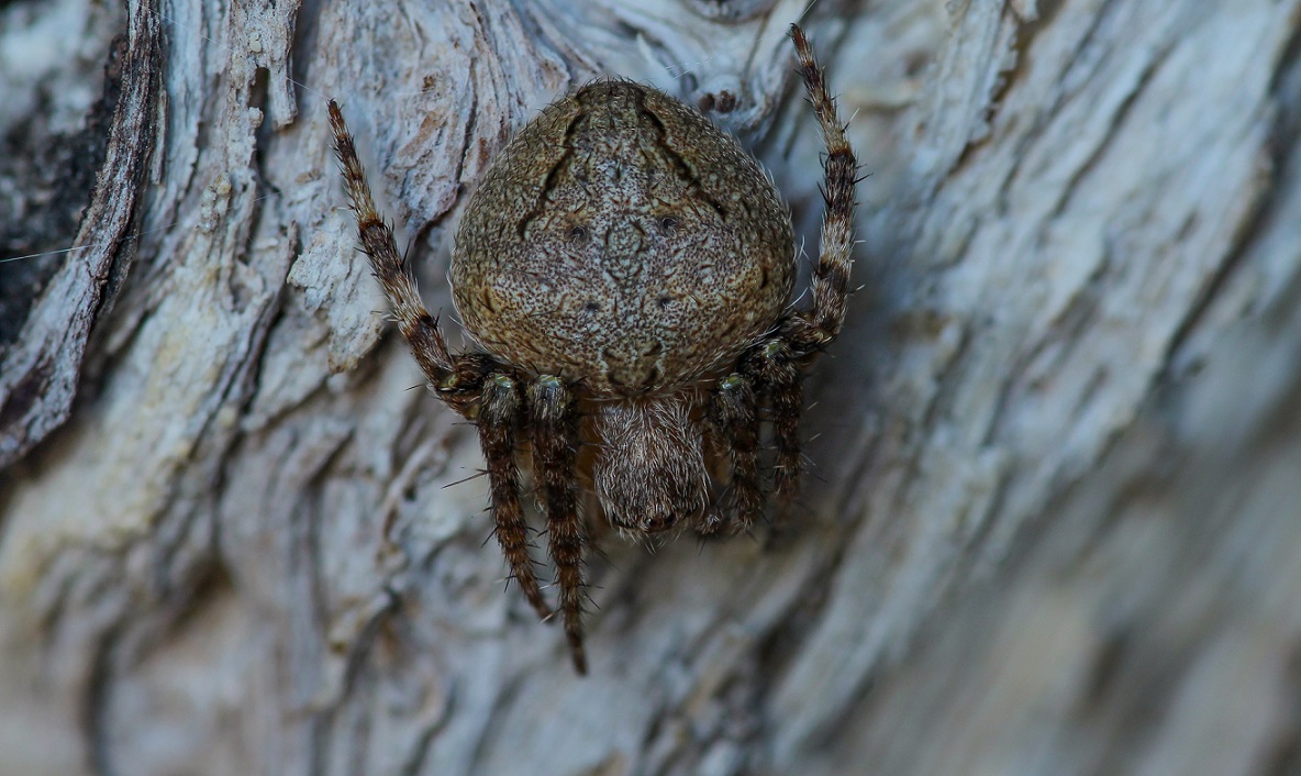
{"type": "MultiPolygon", "coordinates": [[[[753,380],[739,372],[719,380],[709,392],[705,414],[713,426],[714,439],[730,453],[736,527],[747,531],[764,513],[764,488],[758,477],[758,398],[753,380]]],[[[722,526],[723,520],[710,516],[699,531],[708,536],[722,526]]]]}

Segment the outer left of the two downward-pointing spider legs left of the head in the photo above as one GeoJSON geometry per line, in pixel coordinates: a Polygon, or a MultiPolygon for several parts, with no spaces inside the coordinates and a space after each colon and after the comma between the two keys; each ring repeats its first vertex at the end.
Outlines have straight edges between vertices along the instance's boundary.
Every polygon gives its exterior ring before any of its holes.
{"type": "Polygon", "coordinates": [[[510,574],[519,582],[524,598],[541,618],[552,616],[543,598],[533,559],[528,555],[528,523],[519,500],[519,467],[515,465],[515,427],[523,410],[519,387],[510,376],[492,375],[483,388],[479,408],[479,444],[488,461],[488,483],[492,488],[492,510],[497,522],[497,543],[510,565],[510,574]]]}

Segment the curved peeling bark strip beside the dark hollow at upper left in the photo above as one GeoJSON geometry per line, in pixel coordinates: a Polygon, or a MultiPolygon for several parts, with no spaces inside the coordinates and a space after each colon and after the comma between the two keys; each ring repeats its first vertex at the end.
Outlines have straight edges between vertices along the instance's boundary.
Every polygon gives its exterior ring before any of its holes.
{"type": "Polygon", "coordinates": [[[163,22],[157,3],[129,9],[125,52],[105,73],[118,91],[104,165],[62,267],[31,307],[22,333],[0,362],[0,469],[25,456],[72,413],[86,342],[112,305],[135,242],[139,199],[159,128],[164,124],[163,22]]]}

